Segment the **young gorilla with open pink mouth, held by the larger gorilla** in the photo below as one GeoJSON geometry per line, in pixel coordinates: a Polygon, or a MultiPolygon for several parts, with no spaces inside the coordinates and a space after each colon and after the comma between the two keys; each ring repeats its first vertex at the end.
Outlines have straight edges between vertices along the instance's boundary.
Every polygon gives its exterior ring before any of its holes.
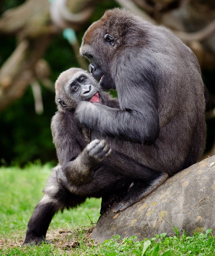
{"type": "Polygon", "coordinates": [[[89,141],[89,132],[84,127],[79,132],[74,122],[78,102],[99,102],[119,108],[118,100],[103,92],[92,75],[79,68],[62,72],[55,89],[58,111],[52,118],[51,129],[59,165],[46,181],[44,196],[29,220],[24,244],[47,241],[46,231],[58,210],[76,207],[86,198],[102,197],[103,213],[126,194],[131,184],[130,179],[114,174],[109,165],[103,164],[112,153],[106,141],[95,139],[88,144],[84,137],[89,141]]]}

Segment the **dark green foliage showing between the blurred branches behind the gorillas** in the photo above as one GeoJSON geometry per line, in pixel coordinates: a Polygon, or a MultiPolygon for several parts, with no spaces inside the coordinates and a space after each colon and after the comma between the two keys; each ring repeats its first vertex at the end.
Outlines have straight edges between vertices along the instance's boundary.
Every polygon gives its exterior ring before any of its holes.
{"type": "MultiPolygon", "coordinates": [[[[3,0],[0,2],[0,14],[6,9],[20,5],[24,0],[3,0]]],[[[88,26],[98,20],[106,9],[117,7],[114,1],[100,1],[96,5],[90,20],[77,33],[79,43],[88,26]]],[[[0,35],[0,66],[15,49],[16,38],[14,35],[0,35]]],[[[51,80],[54,83],[60,72],[78,67],[76,56],[70,44],[62,34],[53,38],[46,49],[45,60],[51,67],[51,80]]],[[[214,70],[204,71],[203,79],[210,93],[215,94],[214,70]]],[[[56,164],[55,148],[52,143],[50,130],[51,118],[56,111],[55,95],[42,86],[44,113],[36,115],[31,87],[25,95],[13,102],[11,106],[0,113],[0,166],[19,165],[40,159],[42,163],[52,161],[56,164]]],[[[213,106],[214,107],[214,106],[213,106]]],[[[206,151],[212,147],[214,141],[215,119],[208,121],[208,139],[206,151]]]]}

